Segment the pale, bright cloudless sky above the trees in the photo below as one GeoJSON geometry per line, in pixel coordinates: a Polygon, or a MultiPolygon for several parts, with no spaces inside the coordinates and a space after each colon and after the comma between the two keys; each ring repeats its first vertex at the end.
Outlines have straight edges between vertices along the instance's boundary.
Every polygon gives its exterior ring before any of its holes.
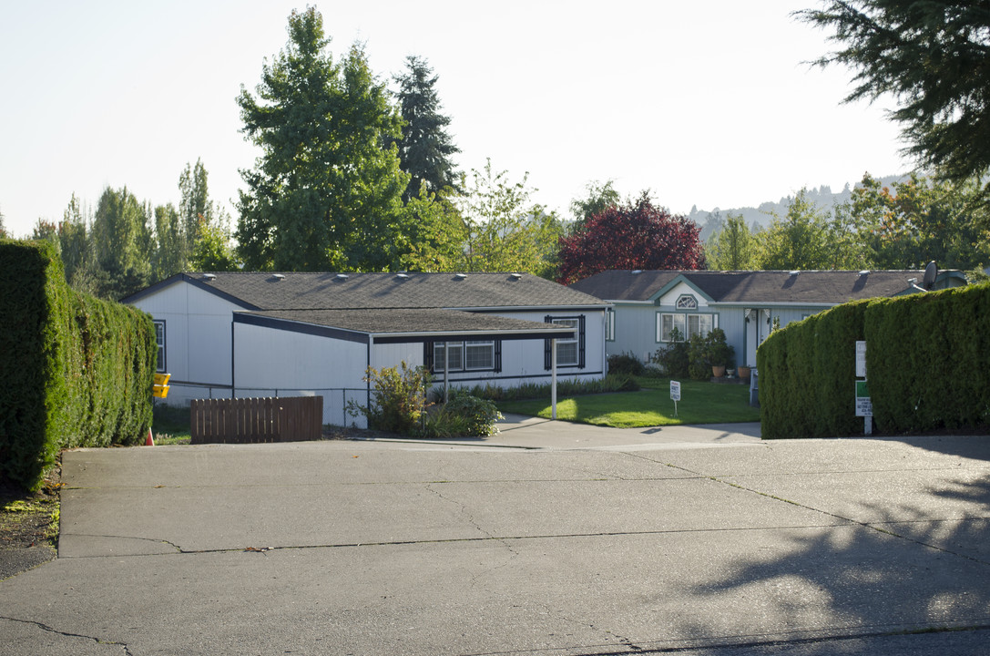
{"type": "MultiPolygon", "coordinates": [[[[649,189],[675,213],[756,206],[802,187],[910,170],[892,101],[842,104],[851,72],[791,12],[818,0],[348,0],[313,3],[341,57],[364,44],[383,80],[425,58],[458,169],[528,174],[569,215],[590,182],[649,189]]],[[[236,221],[258,152],[235,101],[305,3],[0,0],[0,213],[15,236],[106,187],[178,205],[201,160],[236,221]]],[[[395,88],[390,83],[391,88],[395,88]]]]}

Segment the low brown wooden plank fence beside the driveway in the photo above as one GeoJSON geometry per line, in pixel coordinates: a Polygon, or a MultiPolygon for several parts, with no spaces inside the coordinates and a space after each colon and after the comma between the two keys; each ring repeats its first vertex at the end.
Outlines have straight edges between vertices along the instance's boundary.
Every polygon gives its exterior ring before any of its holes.
{"type": "Polygon", "coordinates": [[[193,444],[318,440],[323,396],[209,398],[189,403],[193,444]]]}

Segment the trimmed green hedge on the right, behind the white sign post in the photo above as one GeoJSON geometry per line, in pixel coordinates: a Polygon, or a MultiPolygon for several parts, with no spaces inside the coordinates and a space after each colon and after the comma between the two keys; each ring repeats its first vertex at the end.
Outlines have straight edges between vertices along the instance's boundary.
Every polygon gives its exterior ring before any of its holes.
{"type": "Polygon", "coordinates": [[[855,342],[877,431],[990,426],[990,283],[834,307],[775,331],[756,352],[762,434],[862,434],[855,342]]]}

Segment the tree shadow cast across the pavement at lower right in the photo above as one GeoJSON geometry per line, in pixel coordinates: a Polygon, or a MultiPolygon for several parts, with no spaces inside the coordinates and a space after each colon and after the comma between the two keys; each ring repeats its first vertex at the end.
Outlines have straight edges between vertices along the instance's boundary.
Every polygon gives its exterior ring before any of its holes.
{"type": "Polygon", "coordinates": [[[797,640],[801,654],[835,654],[870,653],[850,636],[990,627],[990,481],[982,472],[949,475],[896,507],[861,503],[853,514],[848,524],[766,531],[726,553],[684,599],[728,603],[740,614],[699,615],[704,622],[692,617],[680,630],[797,640]]]}

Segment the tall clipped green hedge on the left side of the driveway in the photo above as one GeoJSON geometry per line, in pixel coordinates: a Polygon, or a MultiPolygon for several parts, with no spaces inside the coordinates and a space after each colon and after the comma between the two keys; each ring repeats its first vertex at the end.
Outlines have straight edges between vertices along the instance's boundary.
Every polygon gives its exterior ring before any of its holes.
{"type": "Polygon", "coordinates": [[[2,241],[0,316],[0,478],[35,490],[62,449],[144,439],[147,314],[69,288],[48,242],[2,241]]]}

